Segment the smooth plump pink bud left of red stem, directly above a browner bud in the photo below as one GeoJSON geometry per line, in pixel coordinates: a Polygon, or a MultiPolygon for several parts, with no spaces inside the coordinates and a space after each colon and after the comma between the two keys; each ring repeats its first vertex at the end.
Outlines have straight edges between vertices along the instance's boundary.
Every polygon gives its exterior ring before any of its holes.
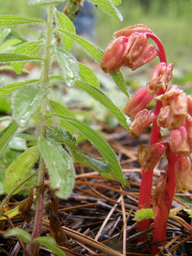
{"type": "Polygon", "coordinates": [[[123,113],[133,121],[136,114],[146,108],[152,101],[153,96],[148,95],[146,88],[140,88],[135,95],[126,103],[123,113]]]}

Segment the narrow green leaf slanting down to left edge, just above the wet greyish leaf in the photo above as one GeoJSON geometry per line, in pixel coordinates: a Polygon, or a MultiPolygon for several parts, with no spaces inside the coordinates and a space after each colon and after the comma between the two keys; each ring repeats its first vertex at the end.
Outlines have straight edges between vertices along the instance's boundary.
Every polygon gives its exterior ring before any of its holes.
{"type": "Polygon", "coordinates": [[[13,91],[17,90],[18,88],[32,84],[35,82],[38,82],[38,79],[32,79],[24,82],[17,82],[17,83],[11,83],[0,87],[0,100],[7,96],[8,94],[12,93],[13,91]]]}

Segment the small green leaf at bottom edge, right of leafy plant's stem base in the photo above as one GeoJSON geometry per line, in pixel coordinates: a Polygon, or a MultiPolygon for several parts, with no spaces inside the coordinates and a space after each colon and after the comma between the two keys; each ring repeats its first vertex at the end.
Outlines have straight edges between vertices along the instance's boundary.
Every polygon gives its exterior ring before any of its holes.
{"type": "Polygon", "coordinates": [[[66,254],[57,247],[56,241],[53,237],[39,236],[33,239],[33,241],[37,241],[40,245],[47,247],[47,249],[51,250],[55,255],[66,256],[66,254]]]}

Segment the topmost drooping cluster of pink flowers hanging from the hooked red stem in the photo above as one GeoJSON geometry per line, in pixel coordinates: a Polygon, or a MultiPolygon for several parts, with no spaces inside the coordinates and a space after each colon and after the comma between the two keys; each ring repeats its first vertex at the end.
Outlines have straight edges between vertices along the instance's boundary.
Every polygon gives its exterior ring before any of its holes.
{"type": "Polygon", "coordinates": [[[147,45],[146,32],[152,31],[143,24],[126,27],[113,34],[100,62],[105,73],[119,71],[121,66],[132,70],[152,61],[157,56],[155,45],[147,45]]]}

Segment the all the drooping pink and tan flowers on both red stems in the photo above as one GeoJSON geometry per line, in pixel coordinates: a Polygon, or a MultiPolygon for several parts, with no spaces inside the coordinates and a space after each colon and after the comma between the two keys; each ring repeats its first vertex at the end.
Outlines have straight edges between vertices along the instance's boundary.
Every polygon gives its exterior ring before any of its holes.
{"type": "MultiPolygon", "coordinates": [[[[110,42],[101,59],[101,69],[107,73],[113,70],[119,71],[121,66],[127,66],[135,70],[152,61],[160,55],[160,52],[155,49],[155,45],[147,45],[149,35],[156,37],[148,27],[142,24],[126,27],[115,32],[113,34],[114,40],[110,42]]],[[[189,158],[192,153],[192,97],[187,96],[176,85],[172,85],[167,90],[168,82],[173,76],[172,71],[172,63],[167,65],[165,62],[160,62],[157,64],[149,82],[146,84],[146,88],[139,89],[127,101],[124,114],[129,116],[132,121],[130,131],[128,131],[131,137],[140,135],[154,121],[157,126],[171,130],[169,142],[159,141],[159,143],[151,145],[148,150],[141,145],[138,159],[145,171],[153,170],[165,149],[170,146],[172,152],[179,156],[175,164],[176,187],[179,191],[185,191],[186,189],[192,189],[189,158]],[[163,91],[161,95],[159,95],[160,90],[163,91]],[[156,94],[155,99],[162,102],[159,112],[146,109],[156,94]],[[188,176],[188,179],[186,176],[188,176]]],[[[162,174],[155,193],[162,191],[160,184],[165,187],[163,181],[165,179],[166,175],[162,174]]],[[[154,199],[157,197],[155,195],[154,199]]]]}

